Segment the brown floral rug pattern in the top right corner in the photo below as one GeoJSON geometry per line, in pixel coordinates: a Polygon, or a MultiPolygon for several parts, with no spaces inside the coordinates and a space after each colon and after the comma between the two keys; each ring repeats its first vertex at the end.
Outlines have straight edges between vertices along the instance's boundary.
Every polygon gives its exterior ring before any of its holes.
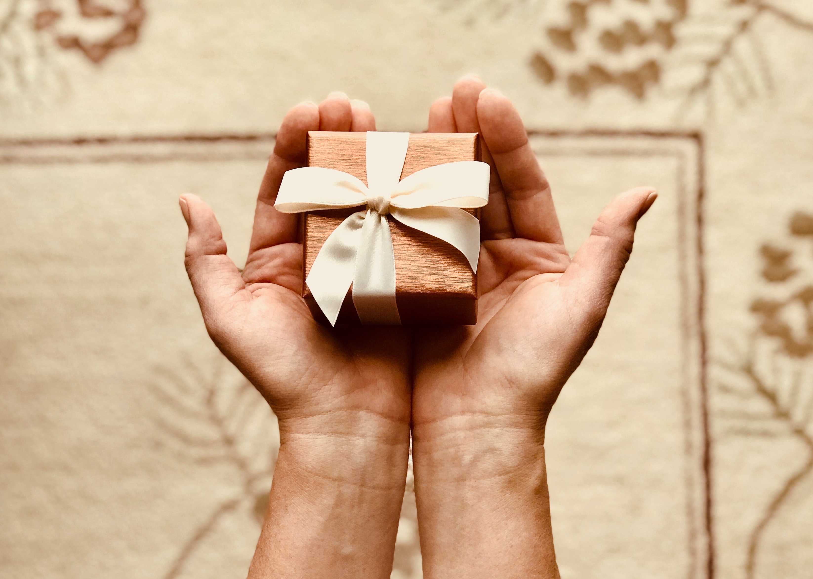
{"type": "Polygon", "coordinates": [[[563,84],[573,97],[618,88],[643,100],[659,88],[680,101],[679,118],[698,103],[711,115],[717,97],[742,104],[772,89],[754,32],[765,18],[813,32],[813,22],[769,0],[557,2],[528,64],[542,83],[563,84]]]}

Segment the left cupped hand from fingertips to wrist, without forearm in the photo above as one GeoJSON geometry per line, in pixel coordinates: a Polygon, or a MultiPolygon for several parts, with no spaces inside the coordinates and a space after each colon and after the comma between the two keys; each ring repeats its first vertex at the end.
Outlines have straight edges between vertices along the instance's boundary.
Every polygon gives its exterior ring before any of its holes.
{"type": "Polygon", "coordinates": [[[363,102],[332,93],[289,111],[257,199],[246,267],[226,256],[211,209],[185,195],[186,269],[218,348],[258,388],[286,426],[330,432],[353,428],[348,413],[410,421],[409,337],[396,327],[333,329],[315,322],[302,300],[298,216],[274,209],[285,171],[307,164],[308,131],[375,130],[363,102]],[[312,424],[311,424],[312,421],[312,424]]]}

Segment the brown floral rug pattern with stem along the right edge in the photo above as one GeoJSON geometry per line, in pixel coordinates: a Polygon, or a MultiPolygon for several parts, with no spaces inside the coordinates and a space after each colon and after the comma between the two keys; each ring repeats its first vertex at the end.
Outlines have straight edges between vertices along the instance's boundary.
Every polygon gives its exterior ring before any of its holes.
{"type": "MultiPolygon", "coordinates": [[[[756,328],[744,352],[734,348],[740,352],[719,362],[715,388],[723,436],[793,439],[805,454],[750,530],[746,579],[760,575],[760,550],[772,522],[800,508],[803,493],[797,491],[813,478],[813,243],[806,243],[813,242],[813,214],[793,214],[788,233],[784,246],[763,244],[759,250],[766,288],[750,306],[756,328]],[[799,266],[804,261],[806,266],[799,266]]],[[[797,541],[805,545],[810,538],[797,541]]]]}

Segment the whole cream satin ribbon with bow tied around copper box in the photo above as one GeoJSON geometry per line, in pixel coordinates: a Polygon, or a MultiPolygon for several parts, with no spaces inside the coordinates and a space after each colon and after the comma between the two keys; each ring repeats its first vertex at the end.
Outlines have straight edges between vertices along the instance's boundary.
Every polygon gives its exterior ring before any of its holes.
{"type": "Polygon", "coordinates": [[[407,145],[408,132],[367,132],[367,186],[353,175],[322,167],[292,169],[282,178],[274,204],[281,213],[367,205],[328,236],[305,280],[332,326],[350,284],[363,324],[401,324],[387,214],[453,245],[477,271],[480,222],[460,208],[489,202],[489,165],[446,163],[399,181],[407,145]]]}

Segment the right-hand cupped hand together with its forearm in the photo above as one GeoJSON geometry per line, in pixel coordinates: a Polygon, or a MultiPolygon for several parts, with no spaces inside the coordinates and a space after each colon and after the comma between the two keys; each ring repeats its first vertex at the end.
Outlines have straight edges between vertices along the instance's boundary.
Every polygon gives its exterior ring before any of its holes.
{"type": "Polygon", "coordinates": [[[593,344],[652,188],[602,212],[574,257],[511,102],[476,76],[435,102],[430,132],[480,132],[476,326],[415,331],[412,454],[424,577],[559,577],[545,426],[593,344]]]}

